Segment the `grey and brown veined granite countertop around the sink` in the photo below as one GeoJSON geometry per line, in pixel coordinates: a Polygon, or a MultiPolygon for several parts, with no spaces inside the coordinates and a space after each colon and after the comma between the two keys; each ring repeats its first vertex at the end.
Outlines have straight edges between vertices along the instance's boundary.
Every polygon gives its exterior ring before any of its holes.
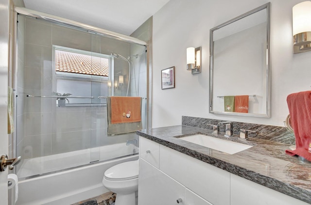
{"type": "Polygon", "coordinates": [[[282,192],[311,204],[311,162],[285,154],[291,144],[257,138],[241,141],[238,136],[224,137],[224,133],[211,134],[212,130],[193,126],[168,126],[137,131],[139,136],[170,147],[193,158],[236,174],[265,187],[282,192]],[[253,147],[236,154],[226,154],[178,139],[192,134],[231,140],[253,147]]]}

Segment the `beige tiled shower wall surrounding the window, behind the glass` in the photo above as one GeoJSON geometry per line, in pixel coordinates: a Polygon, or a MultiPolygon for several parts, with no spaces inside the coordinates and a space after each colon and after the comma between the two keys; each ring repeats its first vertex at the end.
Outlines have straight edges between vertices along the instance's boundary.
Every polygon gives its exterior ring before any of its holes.
{"type": "MultiPolygon", "coordinates": [[[[19,155],[34,158],[125,142],[136,137],[135,134],[107,136],[106,107],[103,105],[57,107],[55,98],[26,97],[51,95],[55,91],[52,82],[52,45],[129,56],[129,43],[24,16],[18,16],[17,38],[19,155]]],[[[116,69],[126,67],[126,74],[127,62],[115,60],[114,64],[116,69]]]]}

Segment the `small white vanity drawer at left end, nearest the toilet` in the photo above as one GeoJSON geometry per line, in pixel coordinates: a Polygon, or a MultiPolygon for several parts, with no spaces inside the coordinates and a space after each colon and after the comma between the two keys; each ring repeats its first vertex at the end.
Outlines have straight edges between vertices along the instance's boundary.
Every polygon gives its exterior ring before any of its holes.
{"type": "Polygon", "coordinates": [[[159,168],[159,144],[139,137],[139,157],[159,168]]]}

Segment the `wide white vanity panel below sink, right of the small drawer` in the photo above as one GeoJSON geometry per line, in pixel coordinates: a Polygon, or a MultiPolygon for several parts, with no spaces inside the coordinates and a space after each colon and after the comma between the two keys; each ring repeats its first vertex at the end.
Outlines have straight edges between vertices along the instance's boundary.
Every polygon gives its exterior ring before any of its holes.
{"type": "Polygon", "coordinates": [[[213,205],[230,205],[230,173],[160,145],[160,170],[213,205]]]}

